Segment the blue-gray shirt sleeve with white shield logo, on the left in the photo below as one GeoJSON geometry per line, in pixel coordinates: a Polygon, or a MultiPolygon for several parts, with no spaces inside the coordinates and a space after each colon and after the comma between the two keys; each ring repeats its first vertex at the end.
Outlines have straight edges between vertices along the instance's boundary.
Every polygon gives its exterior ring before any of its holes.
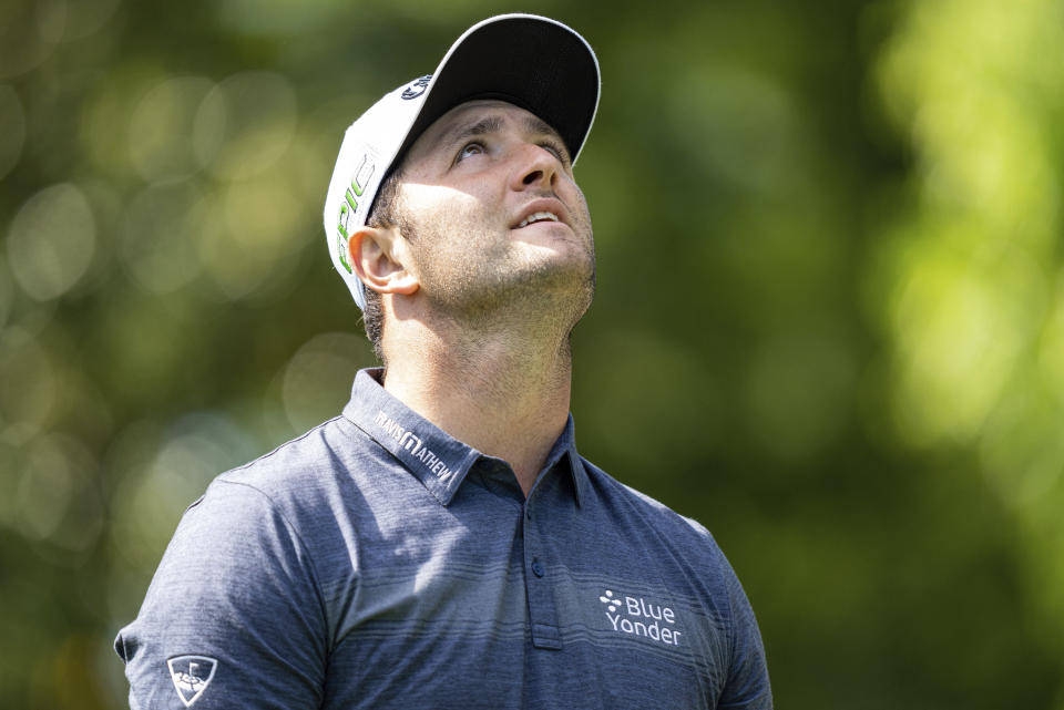
{"type": "Polygon", "coordinates": [[[301,710],[321,703],[327,626],[297,533],[265,494],[218,480],[114,648],[133,710],[301,710]]]}

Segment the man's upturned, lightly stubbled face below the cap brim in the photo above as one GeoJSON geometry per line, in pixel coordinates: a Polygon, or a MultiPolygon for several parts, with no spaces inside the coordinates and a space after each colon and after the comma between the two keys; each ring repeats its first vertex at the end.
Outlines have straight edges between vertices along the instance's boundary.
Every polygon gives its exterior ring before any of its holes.
{"type": "Polygon", "coordinates": [[[591,303],[587,204],[557,133],[523,109],[472,101],[437,120],[403,163],[399,208],[421,291],[443,312],[564,303],[575,322],[591,303]]]}

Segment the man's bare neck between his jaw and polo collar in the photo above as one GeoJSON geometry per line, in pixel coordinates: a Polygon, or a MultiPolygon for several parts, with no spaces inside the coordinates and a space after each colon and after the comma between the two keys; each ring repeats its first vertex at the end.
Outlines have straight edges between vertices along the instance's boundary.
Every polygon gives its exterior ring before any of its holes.
{"type": "Polygon", "coordinates": [[[507,461],[528,495],[569,416],[569,333],[428,330],[389,343],[385,389],[433,424],[507,461]]]}

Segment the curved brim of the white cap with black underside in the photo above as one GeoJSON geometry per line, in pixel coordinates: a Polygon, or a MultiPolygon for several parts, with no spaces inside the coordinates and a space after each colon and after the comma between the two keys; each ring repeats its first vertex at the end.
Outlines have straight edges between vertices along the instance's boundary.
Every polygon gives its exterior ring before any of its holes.
{"type": "Polygon", "coordinates": [[[594,122],[598,92],[598,62],[573,30],[538,16],[491,18],[470,28],[440,62],[397,158],[454,106],[497,99],[550,124],[575,162],[594,122]]]}

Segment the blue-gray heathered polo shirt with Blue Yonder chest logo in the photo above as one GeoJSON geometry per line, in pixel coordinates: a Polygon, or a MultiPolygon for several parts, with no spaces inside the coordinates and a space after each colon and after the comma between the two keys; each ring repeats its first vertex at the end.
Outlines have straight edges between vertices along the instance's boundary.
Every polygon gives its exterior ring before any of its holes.
{"type": "Polygon", "coordinates": [[[342,416],[218,476],[119,632],[132,708],[770,708],[708,532],[576,453],[510,466],[364,370],[342,416]]]}

